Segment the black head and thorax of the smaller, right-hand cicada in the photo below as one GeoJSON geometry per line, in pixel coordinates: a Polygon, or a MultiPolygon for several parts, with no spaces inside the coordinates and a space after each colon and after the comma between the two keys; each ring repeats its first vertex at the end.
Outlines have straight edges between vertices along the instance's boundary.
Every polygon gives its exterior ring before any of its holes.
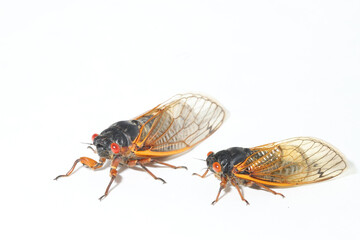
{"type": "Polygon", "coordinates": [[[206,163],[212,172],[214,172],[212,168],[214,162],[220,163],[222,175],[231,176],[234,166],[244,162],[251,154],[252,151],[249,148],[232,147],[216,154],[210,154],[206,159],[206,163]]]}

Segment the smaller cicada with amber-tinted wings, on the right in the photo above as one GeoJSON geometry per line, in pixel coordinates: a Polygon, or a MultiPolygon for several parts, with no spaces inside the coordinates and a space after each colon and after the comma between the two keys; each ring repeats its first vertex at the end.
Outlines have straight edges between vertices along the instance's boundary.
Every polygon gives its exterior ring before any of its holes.
{"type": "Polygon", "coordinates": [[[207,170],[220,179],[221,191],[233,185],[247,204],[241,185],[258,187],[284,197],[270,187],[291,187],[325,181],[341,174],[346,163],[343,155],[330,144],[311,137],[297,137],[253,148],[232,147],[209,152],[207,170]]]}

